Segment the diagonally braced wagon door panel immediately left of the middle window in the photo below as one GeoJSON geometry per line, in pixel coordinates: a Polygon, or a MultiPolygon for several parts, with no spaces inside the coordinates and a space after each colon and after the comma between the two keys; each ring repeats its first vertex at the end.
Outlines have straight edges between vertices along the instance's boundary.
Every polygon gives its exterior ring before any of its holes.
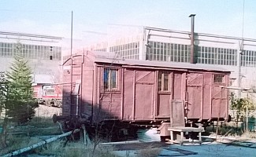
{"type": "Polygon", "coordinates": [[[154,71],[135,72],[135,119],[152,119],[154,71]]]}

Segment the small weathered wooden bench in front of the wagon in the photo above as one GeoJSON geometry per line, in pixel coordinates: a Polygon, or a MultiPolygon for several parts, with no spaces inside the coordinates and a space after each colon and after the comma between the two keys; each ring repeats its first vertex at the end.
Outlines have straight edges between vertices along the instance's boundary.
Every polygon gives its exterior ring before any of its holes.
{"type": "Polygon", "coordinates": [[[186,139],[184,139],[184,133],[188,133],[189,139],[188,142],[193,143],[202,143],[202,132],[204,132],[204,129],[202,127],[195,128],[195,127],[185,127],[185,126],[175,126],[175,127],[169,127],[168,130],[170,131],[171,136],[171,143],[177,143],[177,144],[184,144],[186,139]],[[177,134],[180,133],[180,139],[177,138],[177,134]],[[191,133],[198,133],[198,141],[194,141],[194,139],[191,139],[191,133]]]}

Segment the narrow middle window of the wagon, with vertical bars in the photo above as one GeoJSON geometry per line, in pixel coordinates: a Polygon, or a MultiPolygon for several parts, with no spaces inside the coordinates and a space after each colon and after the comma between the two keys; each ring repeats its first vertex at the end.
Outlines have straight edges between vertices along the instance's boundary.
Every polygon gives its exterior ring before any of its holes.
{"type": "Polygon", "coordinates": [[[158,91],[169,92],[169,71],[159,71],[158,73],[158,91]]]}

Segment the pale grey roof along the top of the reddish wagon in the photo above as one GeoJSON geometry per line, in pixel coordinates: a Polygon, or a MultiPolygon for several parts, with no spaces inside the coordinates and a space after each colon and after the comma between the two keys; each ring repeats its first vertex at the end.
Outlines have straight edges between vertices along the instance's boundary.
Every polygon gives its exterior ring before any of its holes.
{"type": "Polygon", "coordinates": [[[111,52],[91,52],[95,57],[96,63],[109,63],[109,64],[120,64],[129,66],[144,66],[152,68],[180,68],[180,69],[197,69],[205,71],[224,71],[231,72],[227,69],[221,68],[213,64],[190,64],[190,63],[177,63],[177,62],[166,62],[166,61],[153,61],[153,60],[132,60],[124,59],[118,56],[116,53],[111,52]]]}

